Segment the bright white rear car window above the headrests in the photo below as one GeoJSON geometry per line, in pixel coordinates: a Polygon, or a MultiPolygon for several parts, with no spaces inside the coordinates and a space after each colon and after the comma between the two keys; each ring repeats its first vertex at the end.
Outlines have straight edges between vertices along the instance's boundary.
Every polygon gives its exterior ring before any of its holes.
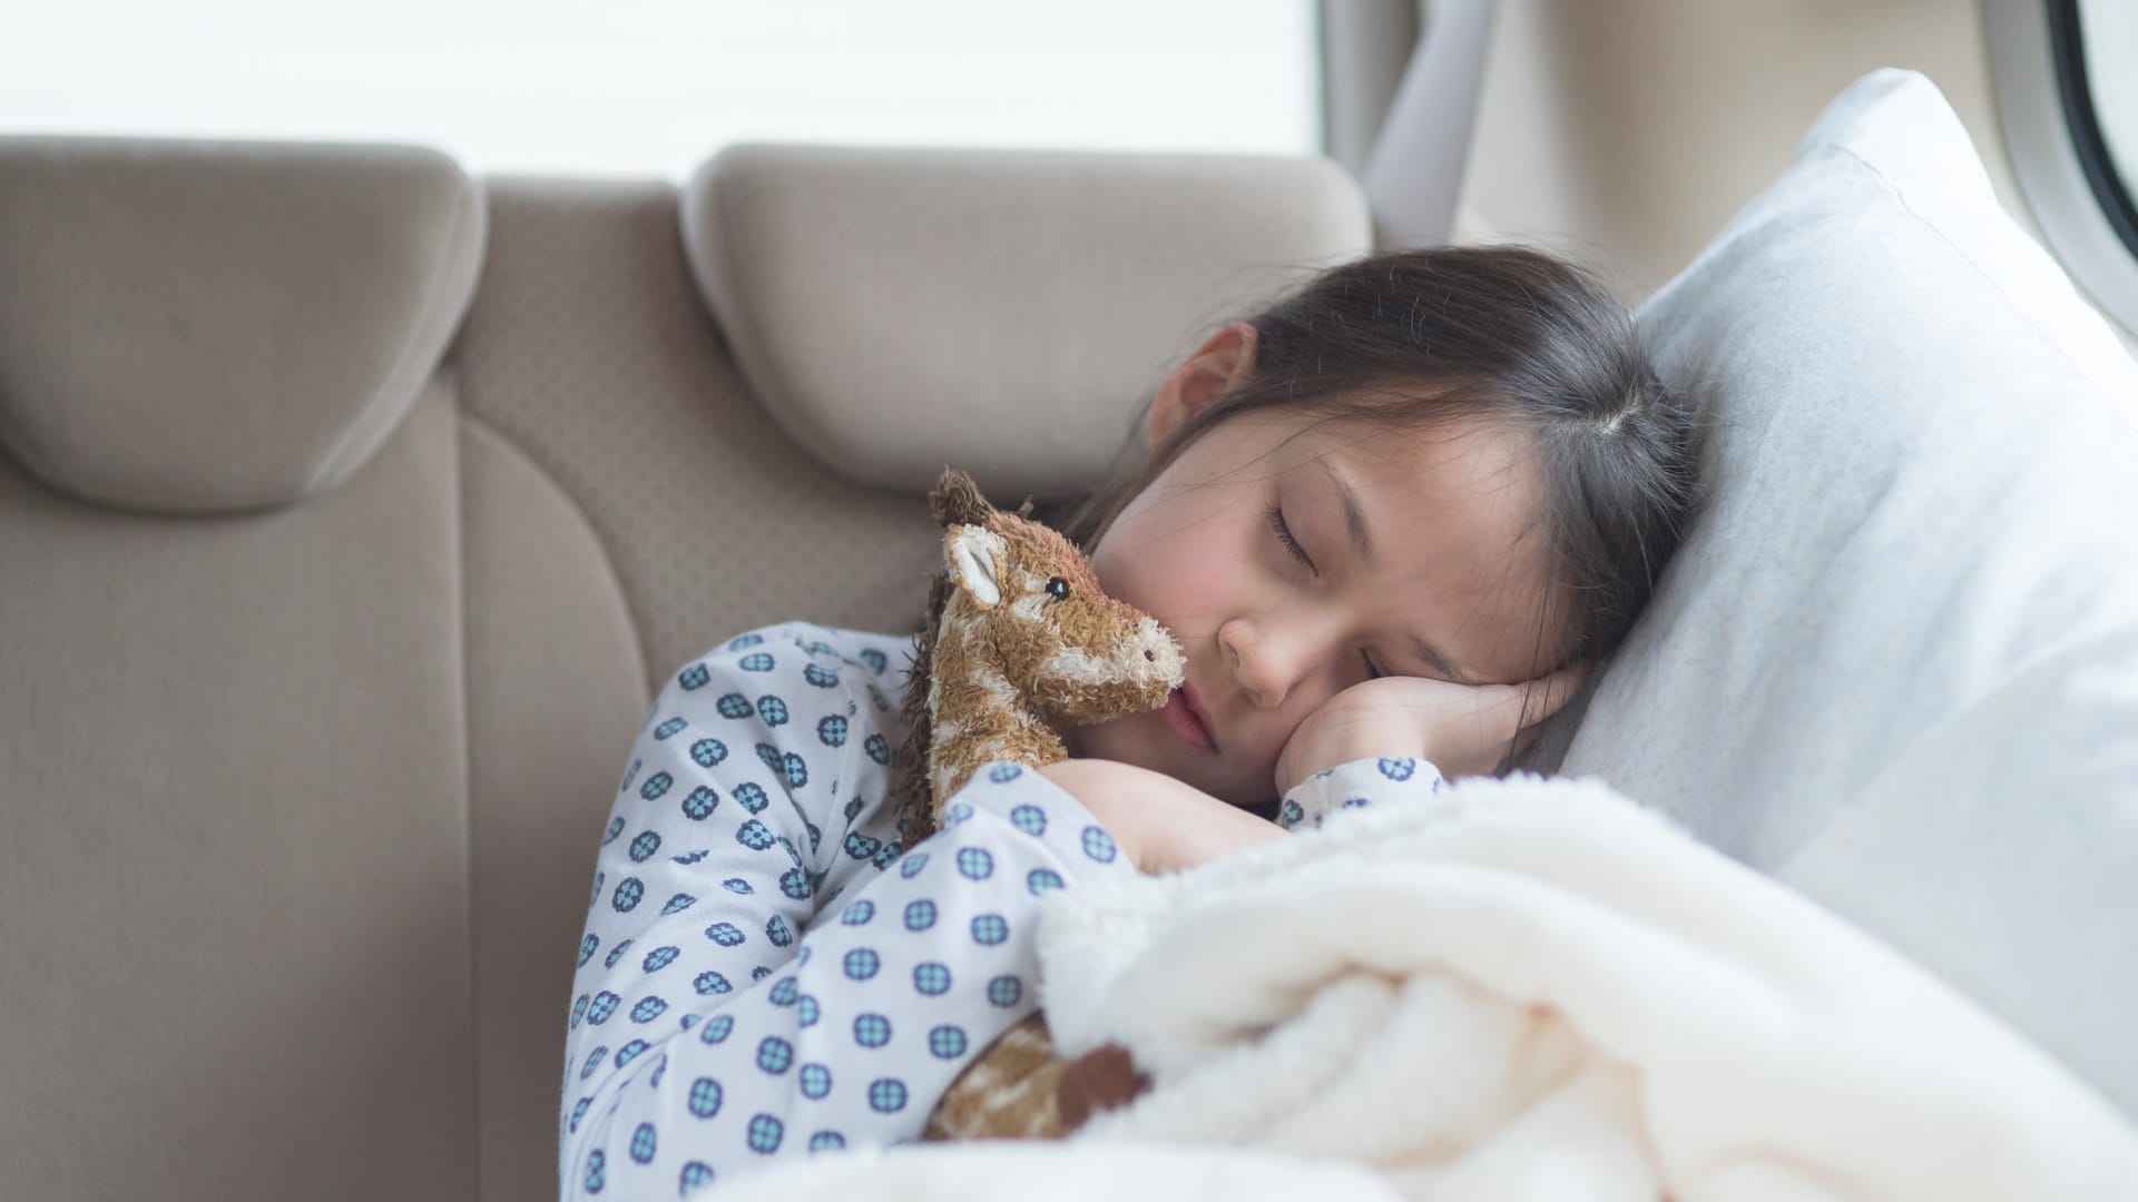
{"type": "Polygon", "coordinates": [[[1311,154],[1313,0],[6,0],[0,133],[415,141],[680,180],[729,141],[1311,154]]]}

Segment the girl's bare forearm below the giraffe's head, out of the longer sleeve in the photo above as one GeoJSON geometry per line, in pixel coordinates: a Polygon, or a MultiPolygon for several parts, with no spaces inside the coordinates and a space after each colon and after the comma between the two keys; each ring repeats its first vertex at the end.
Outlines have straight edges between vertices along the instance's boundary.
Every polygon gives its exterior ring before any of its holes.
{"type": "Polygon", "coordinates": [[[1084,802],[1140,873],[1180,873],[1285,836],[1274,821],[1133,764],[1063,759],[1039,774],[1084,802]]]}

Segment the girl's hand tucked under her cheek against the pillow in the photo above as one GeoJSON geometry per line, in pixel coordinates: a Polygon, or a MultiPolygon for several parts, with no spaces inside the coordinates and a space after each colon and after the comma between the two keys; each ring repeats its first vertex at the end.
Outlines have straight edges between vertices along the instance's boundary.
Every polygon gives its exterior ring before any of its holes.
{"type": "Polygon", "coordinates": [[[1509,742],[1520,746],[1537,736],[1537,723],[1567,704],[1582,674],[1582,667],[1563,667],[1522,684],[1456,684],[1424,676],[1353,684],[1291,731],[1276,757],[1276,796],[1323,768],[1381,755],[1430,759],[1450,779],[1490,772],[1509,742]]]}

